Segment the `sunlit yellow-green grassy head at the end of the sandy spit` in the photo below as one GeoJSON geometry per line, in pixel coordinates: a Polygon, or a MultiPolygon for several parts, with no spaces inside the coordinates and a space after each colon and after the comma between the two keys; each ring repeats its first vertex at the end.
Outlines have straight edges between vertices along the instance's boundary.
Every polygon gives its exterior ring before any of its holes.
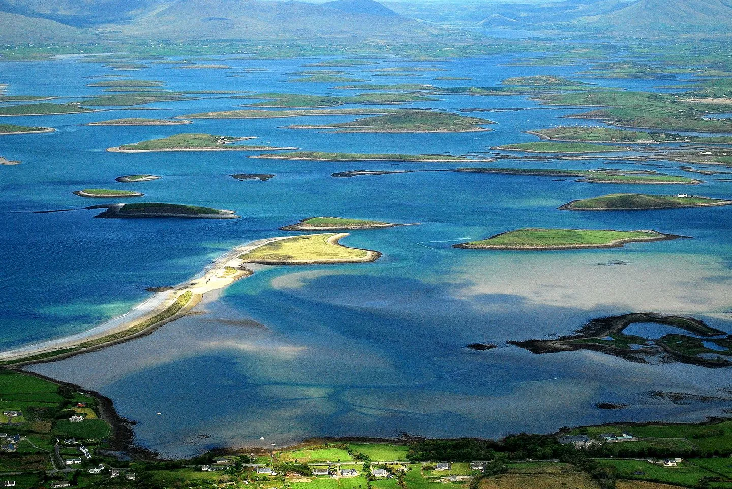
{"type": "Polygon", "coordinates": [[[378,251],[348,248],[338,243],[346,236],[347,232],[335,232],[279,238],[247,251],[239,259],[268,265],[309,265],[373,262],[381,257],[378,251]]]}

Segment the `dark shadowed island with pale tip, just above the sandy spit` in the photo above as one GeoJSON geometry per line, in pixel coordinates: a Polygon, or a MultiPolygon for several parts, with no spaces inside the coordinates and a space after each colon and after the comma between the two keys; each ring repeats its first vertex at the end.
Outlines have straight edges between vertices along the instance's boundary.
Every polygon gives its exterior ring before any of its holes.
{"type": "Polygon", "coordinates": [[[103,219],[139,218],[187,218],[187,219],[239,219],[234,211],[222,211],[198,205],[166,204],[162,202],[138,202],[135,204],[100,204],[87,209],[106,209],[94,217],[103,219]]]}

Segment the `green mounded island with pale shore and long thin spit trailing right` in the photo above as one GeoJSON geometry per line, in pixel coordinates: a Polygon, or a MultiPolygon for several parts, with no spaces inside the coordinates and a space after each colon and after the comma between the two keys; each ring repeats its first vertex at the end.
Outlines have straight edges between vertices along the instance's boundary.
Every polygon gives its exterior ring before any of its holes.
{"type": "Polygon", "coordinates": [[[184,132],[160,139],[142,141],[108,148],[113,153],[135,153],[138,151],[252,151],[297,148],[275,148],[272,146],[233,145],[239,141],[255,139],[255,136],[217,136],[214,134],[184,132]]]}

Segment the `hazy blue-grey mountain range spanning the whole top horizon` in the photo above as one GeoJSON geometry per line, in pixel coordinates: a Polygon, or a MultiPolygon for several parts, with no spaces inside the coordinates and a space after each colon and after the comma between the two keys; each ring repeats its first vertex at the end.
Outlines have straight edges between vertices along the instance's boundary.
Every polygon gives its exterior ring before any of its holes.
{"type": "Polygon", "coordinates": [[[728,33],[732,0],[0,0],[0,42],[418,40],[500,27],[654,36],[728,33]]]}

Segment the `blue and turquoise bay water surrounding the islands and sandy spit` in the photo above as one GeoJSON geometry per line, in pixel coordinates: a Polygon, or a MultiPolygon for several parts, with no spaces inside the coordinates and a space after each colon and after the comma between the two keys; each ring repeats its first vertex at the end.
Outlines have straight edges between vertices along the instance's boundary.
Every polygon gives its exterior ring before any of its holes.
{"type": "MultiPolygon", "coordinates": [[[[424,77],[371,77],[373,83],[486,86],[519,75],[571,75],[586,67],[506,67],[511,56],[439,64],[424,77]],[[433,76],[465,75],[466,81],[433,76]]],[[[319,83],[286,83],[282,74],[313,60],[226,61],[230,70],[176,70],[165,65],[113,72],[73,59],[0,64],[10,94],[99,94],[87,76],[127,74],[165,80],[178,90],[336,92],[319,83]],[[242,73],[241,67],[269,67],[242,73]],[[243,77],[228,77],[237,74],[243,77]]],[[[383,61],[378,67],[400,65],[383,61]]],[[[361,76],[365,75],[365,76],[361,76]]],[[[653,80],[588,80],[650,89],[653,80]]],[[[358,92],[354,92],[358,93],[358,92]]],[[[694,314],[732,331],[730,207],[674,211],[558,211],[569,200],[611,192],[694,192],[730,197],[730,183],[615,186],[551,178],[464,173],[406,173],[332,178],[367,169],[436,169],[450,164],[323,163],[247,159],[247,153],[119,154],[105,148],[176,132],[255,135],[253,143],[306,150],[451,153],[490,151],[534,140],[521,132],[566,124],[569,108],[540,107],[522,97],[440,97],[410,107],[474,112],[496,121],[490,132],[458,134],[331,134],[280,129],[339,118],[201,120],[189,126],[92,127],[122,117],[171,117],[227,110],[246,99],[216,96],[151,104],[157,110],[4,118],[3,123],[53,126],[52,134],[0,137],[0,286],[4,349],[78,333],[124,314],[149,296],[146,287],[179,284],[232,246],[287,234],[278,227],[307,216],[344,216],[414,227],[353,232],[344,244],[382,251],[359,265],[258,270],[151,336],[34,371],[100,390],[120,414],[138,421],[138,441],[167,455],[223,444],[284,444],[307,436],[498,436],[553,431],[561,425],[611,420],[698,420],[728,401],[676,405],[649,390],[709,393],[729,387],[729,369],[643,365],[591,352],[531,355],[509,340],[563,335],[606,314],[658,311],[694,314]],[[122,184],[132,173],[163,175],[122,184]],[[270,181],[234,181],[231,173],[276,173],[270,181]],[[130,201],[181,202],[234,209],[244,219],[92,219],[94,211],[29,213],[98,203],[75,190],[135,189],[130,201]],[[621,249],[559,253],[466,251],[452,244],[517,227],[656,229],[692,240],[635,243],[621,249]],[[621,262],[616,265],[600,265],[621,262]],[[471,352],[465,344],[498,344],[471,352]],[[103,366],[102,366],[103,365],[103,366]],[[600,401],[629,403],[619,411],[600,401]],[[163,414],[158,416],[157,412],[163,414]]],[[[361,106],[357,106],[361,107],[361,106]]],[[[340,118],[351,120],[352,118],[340,118]]],[[[516,162],[517,167],[647,168],[612,158],[592,162],[516,162]]],[[[663,171],[679,175],[678,165],[663,171]]],[[[722,175],[723,176],[723,175],[722,175]]],[[[706,178],[705,178],[706,179],[706,178]]],[[[296,234],[296,233],[291,233],[296,234]]]]}

